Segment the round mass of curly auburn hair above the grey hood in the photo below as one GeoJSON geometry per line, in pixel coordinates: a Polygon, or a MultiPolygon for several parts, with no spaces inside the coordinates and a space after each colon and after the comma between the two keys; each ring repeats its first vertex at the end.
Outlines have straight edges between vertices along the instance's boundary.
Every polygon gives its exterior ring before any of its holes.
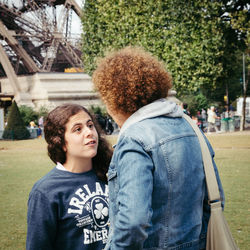
{"type": "Polygon", "coordinates": [[[161,62],[142,48],[130,46],[100,59],[92,80],[104,103],[124,114],[167,97],[172,86],[161,62]]]}

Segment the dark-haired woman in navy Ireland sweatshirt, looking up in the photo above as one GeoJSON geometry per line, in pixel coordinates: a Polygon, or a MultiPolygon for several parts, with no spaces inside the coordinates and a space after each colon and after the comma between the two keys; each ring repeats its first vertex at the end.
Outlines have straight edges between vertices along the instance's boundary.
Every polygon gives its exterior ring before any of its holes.
{"type": "Polygon", "coordinates": [[[30,192],[26,249],[101,250],[108,238],[106,173],[112,151],[80,105],[56,107],[44,132],[56,166],[30,192]]]}

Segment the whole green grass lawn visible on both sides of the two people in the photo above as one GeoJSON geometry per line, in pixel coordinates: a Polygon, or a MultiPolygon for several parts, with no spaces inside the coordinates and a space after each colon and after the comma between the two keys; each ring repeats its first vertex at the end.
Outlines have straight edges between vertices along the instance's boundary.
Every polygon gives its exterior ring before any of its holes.
{"type": "MultiPolygon", "coordinates": [[[[249,249],[250,132],[208,136],[226,194],[225,215],[240,249],[249,249]]],[[[116,137],[109,137],[114,143],[116,137]]],[[[54,166],[43,139],[0,140],[0,249],[25,249],[28,194],[54,166]]]]}

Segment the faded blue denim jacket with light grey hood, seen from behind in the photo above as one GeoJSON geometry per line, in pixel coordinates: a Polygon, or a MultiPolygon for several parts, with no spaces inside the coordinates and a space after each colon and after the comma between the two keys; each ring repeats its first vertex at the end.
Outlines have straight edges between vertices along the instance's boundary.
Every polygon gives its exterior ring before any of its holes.
{"type": "Polygon", "coordinates": [[[123,124],[108,171],[105,249],[205,249],[210,209],[201,149],[182,114],[160,99],[123,124]]]}

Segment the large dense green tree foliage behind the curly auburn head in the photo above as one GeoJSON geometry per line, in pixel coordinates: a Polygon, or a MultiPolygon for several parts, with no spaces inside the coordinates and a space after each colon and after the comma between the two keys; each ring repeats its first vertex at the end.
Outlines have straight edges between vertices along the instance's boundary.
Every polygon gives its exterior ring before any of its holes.
{"type": "Polygon", "coordinates": [[[240,43],[223,17],[228,9],[228,1],[86,0],[85,71],[91,75],[110,49],[142,46],[165,62],[179,96],[204,91],[212,98],[221,90],[223,99],[226,85],[239,82],[240,43]]]}

